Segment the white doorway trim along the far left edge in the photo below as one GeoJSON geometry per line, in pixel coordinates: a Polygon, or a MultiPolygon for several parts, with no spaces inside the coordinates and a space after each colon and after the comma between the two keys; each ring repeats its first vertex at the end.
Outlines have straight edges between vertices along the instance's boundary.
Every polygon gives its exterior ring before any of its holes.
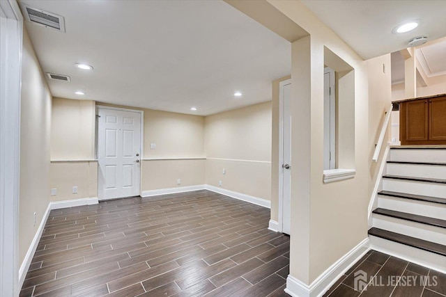
{"type": "Polygon", "coordinates": [[[23,17],[15,0],[0,1],[0,296],[18,296],[20,96],[23,17]]]}

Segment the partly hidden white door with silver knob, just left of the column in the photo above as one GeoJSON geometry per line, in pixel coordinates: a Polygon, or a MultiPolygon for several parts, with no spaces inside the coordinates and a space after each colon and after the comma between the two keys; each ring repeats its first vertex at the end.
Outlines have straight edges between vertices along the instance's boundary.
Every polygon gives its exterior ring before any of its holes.
{"type": "Polygon", "coordinates": [[[291,234],[291,80],[279,86],[279,231],[291,234]]]}

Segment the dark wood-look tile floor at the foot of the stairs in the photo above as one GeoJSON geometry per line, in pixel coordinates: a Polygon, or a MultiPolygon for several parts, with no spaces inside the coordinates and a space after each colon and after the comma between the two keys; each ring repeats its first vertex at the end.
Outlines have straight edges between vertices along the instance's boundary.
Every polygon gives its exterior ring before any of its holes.
{"type": "Polygon", "coordinates": [[[446,275],[370,250],[324,296],[445,297],[446,275]],[[354,289],[357,271],[367,273],[367,280],[373,278],[361,291],[354,289]]]}

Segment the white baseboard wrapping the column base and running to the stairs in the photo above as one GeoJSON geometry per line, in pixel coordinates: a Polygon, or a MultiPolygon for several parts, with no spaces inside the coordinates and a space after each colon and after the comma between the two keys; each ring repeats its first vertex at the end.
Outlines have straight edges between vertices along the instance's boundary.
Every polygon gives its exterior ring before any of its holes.
{"type": "Polygon", "coordinates": [[[324,273],[319,275],[312,284],[308,285],[288,275],[286,278],[286,293],[293,297],[316,297],[323,296],[328,289],[348,271],[353,264],[361,259],[370,250],[369,239],[364,239],[355,248],[347,252],[324,273]]]}

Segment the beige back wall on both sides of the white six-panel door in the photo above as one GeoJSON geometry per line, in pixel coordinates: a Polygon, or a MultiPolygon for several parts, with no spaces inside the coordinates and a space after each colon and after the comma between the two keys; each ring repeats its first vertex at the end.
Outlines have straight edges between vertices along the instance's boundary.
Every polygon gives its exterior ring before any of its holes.
{"type": "MultiPolygon", "coordinates": [[[[95,109],[95,102],[89,100],[53,100],[50,188],[57,188],[57,195],[51,196],[52,201],[98,196],[98,163],[88,161],[95,156],[95,109]],[[77,194],[72,186],[78,187],[77,194]]],[[[172,160],[204,156],[204,118],[137,110],[144,111],[143,158],[157,159],[141,161],[141,191],[204,184],[204,160],[172,160]],[[156,144],[155,150],[150,149],[151,143],[156,144]]]]}

